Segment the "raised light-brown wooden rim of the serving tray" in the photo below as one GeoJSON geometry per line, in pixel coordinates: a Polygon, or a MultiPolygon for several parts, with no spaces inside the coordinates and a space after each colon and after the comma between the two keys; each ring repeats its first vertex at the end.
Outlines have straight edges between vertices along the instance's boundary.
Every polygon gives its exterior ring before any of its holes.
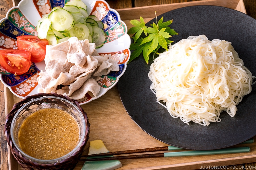
{"type": "MultiPolygon", "coordinates": [[[[14,0],[13,0],[13,4],[14,0]]],[[[136,8],[126,8],[126,9],[117,9],[118,13],[121,16],[121,19],[127,24],[129,23],[130,19],[138,19],[140,16],[138,14],[141,14],[143,18],[145,19],[145,22],[151,20],[152,18],[155,18],[155,11],[156,8],[161,8],[161,11],[157,11],[157,15],[163,14],[167,11],[171,11],[173,9],[185,7],[185,6],[192,6],[192,5],[216,5],[228,7],[235,9],[237,11],[243,12],[246,14],[244,1],[243,0],[202,0],[202,1],[193,1],[193,2],[185,2],[185,3],[175,3],[175,4],[164,4],[164,5],[154,5],[154,6],[145,6],[145,7],[136,7],[136,8]],[[232,4],[230,4],[232,3],[232,4]],[[143,14],[141,10],[146,10],[146,14],[143,14]],[[129,11],[129,15],[126,14],[126,12],[129,11]],[[152,13],[148,15],[149,13],[152,13]],[[132,15],[130,15],[132,14],[132,15]],[[135,16],[136,15],[136,16],[135,16]]],[[[128,28],[130,28],[128,26],[128,28]]],[[[5,98],[5,114],[7,115],[10,110],[12,109],[12,106],[14,104],[14,96],[12,92],[4,86],[4,98],[5,98]],[[7,102],[8,101],[8,102],[7,102]]],[[[18,98],[18,97],[16,97],[18,98]]],[[[236,164],[242,164],[242,163],[250,163],[255,161],[255,155],[251,156],[242,156],[242,157],[234,157],[234,158],[226,158],[226,159],[214,159],[211,160],[211,165],[220,166],[220,165],[233,165],[234,160],[236,160],[236,164]]],[[[8,163],[9,163],[9,169],[10,170],[16,170],[18,169],[18,162],[14,159],[12,156],[12,153],[10,152],[10,148],[8,147],[8,163]]],[[[209,161],[197,161],[193,163],[184,163],[184,164],[174,164],[171,166],[157,166],[157,167],[147,167],[148,169],[180,169],[180,168],[186,168],[186,169],[199,169],[201,165],[205,165],[206,163],[209,163],[209,161]],[[189,166],[189,168],[188,168],[189,166]]]]}

